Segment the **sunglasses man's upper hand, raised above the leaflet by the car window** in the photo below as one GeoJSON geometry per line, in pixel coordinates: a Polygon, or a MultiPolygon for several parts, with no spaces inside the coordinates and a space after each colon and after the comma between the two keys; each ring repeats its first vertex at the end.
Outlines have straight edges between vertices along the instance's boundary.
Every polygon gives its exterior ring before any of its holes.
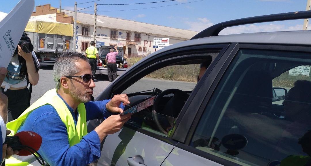
{"type": "Polygon", "coordinates": [[[119,108],[121,102],[123,102],[123,105],[129,104],[130,101],[128,101],[128,95],[114,95],[114,97],[106,104],[106,108],[112,113],[123,113],[123,109],[119,108]]]}

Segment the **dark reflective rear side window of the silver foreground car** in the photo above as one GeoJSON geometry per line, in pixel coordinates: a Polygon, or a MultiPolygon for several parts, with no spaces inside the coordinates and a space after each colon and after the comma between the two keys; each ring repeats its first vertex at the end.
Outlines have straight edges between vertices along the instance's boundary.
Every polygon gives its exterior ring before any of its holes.
{"type": "MultiPolygon", "coordinates": [[[[311,129],[310,104],[295,102],[299,110],[292,106],[289,96],[296,96],[290,93],[285,96],[286,107],[272,104],[273,97],[283,94],[272,87],[290,89],[297,80],[311,81],[310,56],[239,50],[213,92],[190,145],[240,165],[267,166],[276,160],[286,163],[292,155],[306,156],[298,140],[311,129]],[[293,74],[291,69],[299,66],[306,67],[304,75],[293,74]]],[[[310,87],[304,88],[304,95],[311,94],[310,87]]]]}

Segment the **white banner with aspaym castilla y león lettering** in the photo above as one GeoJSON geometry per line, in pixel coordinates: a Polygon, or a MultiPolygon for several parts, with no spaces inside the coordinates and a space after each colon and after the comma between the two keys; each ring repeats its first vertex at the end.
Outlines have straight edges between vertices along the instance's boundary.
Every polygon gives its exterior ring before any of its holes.
{"type": "Polygon", "coordinates": [[[34,7],[34,0],[21,0],[0,22],[0,67],[11,61],[34,7]]]}

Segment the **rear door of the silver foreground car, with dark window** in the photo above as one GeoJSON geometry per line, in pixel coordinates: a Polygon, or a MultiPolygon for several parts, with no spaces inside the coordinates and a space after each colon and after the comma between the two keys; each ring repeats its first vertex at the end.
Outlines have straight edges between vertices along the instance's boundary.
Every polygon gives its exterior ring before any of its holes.
{"type": "MultiPolygon", "coordinates": [[[[310,85],[310,65],[309,47],[236,45],[193,90],[197,94],[184,106],[172,136],[178,143],[161,166],[304,162],[306,147],[298,140],[310,132],[310,109],[295,114],[288,109],[287,118],[276,117],[271,92],[272,86],[310,85]],[[297,66],[303,71],[297,72],[297,66]],[[210,76],[216,74],[211,83],[210,76]]],[[[301,96],[311,93],[311,86],[301,89],[301,96]]],[[[298,103],[310,106],[307,100],[298,103]]]]}

